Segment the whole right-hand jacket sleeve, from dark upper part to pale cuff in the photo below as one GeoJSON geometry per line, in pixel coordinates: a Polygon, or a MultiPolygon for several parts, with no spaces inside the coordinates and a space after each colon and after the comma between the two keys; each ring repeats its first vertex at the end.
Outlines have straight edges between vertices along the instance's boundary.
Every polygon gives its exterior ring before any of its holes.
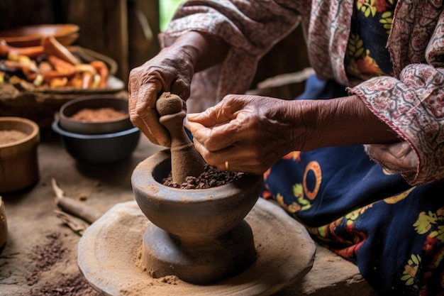
{"type": "Polygon", "coordinates": [[[416,13],[402,4],[389,38],[396,77],[377,77],[350,92],[403,139],[366,146],[370,157],[411,185],[439,182],[444,179],[444,13],[435,6],[416,13]],[[423,23],[425,18],[430,21],[423,23]],[[414,33],[420,31],[425,34],[414,33]],[[399,37],[405,35],[411,38],[399,37]]]}

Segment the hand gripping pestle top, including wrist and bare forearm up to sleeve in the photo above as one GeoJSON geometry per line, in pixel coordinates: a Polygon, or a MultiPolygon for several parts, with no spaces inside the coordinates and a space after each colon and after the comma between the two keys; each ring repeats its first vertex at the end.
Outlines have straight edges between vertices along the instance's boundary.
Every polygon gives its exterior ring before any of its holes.
{"type": "MultiPolygon", "coordinates": [[[[170,147],[170,134],[159,123],[155,109],[157,99],[163,92],[171,92],[185,102],[194,72],[222,62],[227,53],[228,45],[220,38],[190,31],[145,64],[131,70],[128,90],[133,124],[152,143],[170,147]]],[[[183,107],[185,109],[186,104],[183,107]]]]}

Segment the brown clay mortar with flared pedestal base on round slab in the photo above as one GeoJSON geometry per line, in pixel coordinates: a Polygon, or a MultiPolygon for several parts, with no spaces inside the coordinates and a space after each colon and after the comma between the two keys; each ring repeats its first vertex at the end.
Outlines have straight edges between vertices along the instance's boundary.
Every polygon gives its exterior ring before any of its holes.
{"type": "Polygon", "coordinates": [[[151,224],[143,236],[142,261],[153,278],[177,275],[208,285],[239,273],[255,261],[252,229],[244,220],[259,198],[262,176],[208,189],[162,184],[171,172],[170,150],[135,168],[135,201],[151,224]]]}

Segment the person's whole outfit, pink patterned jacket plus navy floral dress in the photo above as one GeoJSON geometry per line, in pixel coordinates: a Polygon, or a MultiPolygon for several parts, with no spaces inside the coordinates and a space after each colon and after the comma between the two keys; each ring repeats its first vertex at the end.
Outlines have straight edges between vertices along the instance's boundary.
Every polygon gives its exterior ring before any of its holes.
{"type": "Polygon", "coordinates": [[[189,0],[160,40],[195,30],[231,44],[223,64],[194,75],[191,99],[209,106],[245,92],[260,57],[299,24],[316,75],[348,87],[403,141],[294,151],[265,173],[262,197],[380,295],[444,295],[443,1],[189,0]]]}

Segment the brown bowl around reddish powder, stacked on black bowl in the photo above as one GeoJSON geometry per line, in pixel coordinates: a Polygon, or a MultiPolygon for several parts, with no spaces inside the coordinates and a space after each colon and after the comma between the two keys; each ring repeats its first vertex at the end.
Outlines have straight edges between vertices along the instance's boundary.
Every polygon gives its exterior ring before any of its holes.
{"type": "Polygon", "coordinates": [[[90,95],[73,99],[63,104],[59,111],[60,127],[65,131],[82,134],[116,133],[133,128],[128,114],[128,100],[113,95],[90,95]],[[82,109],[99,110],[111,108],[126,114],[121,119],[106,121],[88,121],[72,119],[72,116],[82,109]]]}

